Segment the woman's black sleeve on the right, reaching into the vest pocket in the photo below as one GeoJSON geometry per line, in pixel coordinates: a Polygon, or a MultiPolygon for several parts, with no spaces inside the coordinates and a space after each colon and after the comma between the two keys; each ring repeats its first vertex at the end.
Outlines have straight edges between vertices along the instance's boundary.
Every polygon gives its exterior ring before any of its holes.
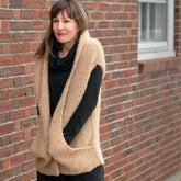
{"type": "Polygon", "coordinates": [[[80,132],[86,121],[94,110],[98,102],[98,95],[101,83],[102,83],[102,70],[100,66],[97,66],[91,72],[88,87],[86,89],[86,92],[78,109],[71,116],[67,126],[64,128],[65,140],[67,142],[68,145],[80,132]]]}

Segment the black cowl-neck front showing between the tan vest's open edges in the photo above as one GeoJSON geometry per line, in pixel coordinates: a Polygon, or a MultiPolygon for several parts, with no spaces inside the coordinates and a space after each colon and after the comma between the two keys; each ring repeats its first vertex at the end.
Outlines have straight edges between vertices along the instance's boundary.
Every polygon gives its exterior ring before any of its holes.
{"type": "Polygon", "coordinates": [[[78,43],[76,43],[66,57],[58,57],[58,48],[54,46],[53,54],[49,55],[48,63],[48,86],[49,86],[49,103],[50,115],[53,116],[57,103],[61,97],[64,87],[71,72],[78,43]]]}

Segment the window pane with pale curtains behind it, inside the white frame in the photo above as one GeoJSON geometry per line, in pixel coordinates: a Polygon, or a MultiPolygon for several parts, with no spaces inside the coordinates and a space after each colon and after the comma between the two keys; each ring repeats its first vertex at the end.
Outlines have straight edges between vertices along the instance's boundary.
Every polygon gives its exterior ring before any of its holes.
{"type": "Polygon", "coordinates": [[[139,42],[167,41],[166,3],[140,2],[139,7],[139,42]]]}

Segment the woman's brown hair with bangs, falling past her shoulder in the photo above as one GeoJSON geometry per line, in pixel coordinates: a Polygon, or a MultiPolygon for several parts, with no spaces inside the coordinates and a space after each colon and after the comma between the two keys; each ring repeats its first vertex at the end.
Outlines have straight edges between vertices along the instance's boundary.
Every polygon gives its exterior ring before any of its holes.
{"type": "Polygon", "coordinates": [[[59,12],[64,15],[64,11],[67,12],[70,19],[76,20],[80,29],[78,37],[88,29],[89,18],[86,8],[78,0],[59,0],[50,9],[50,23],[43,42],[41,43],[37,52],[35,53],[35,57],[43,57],[45,53],[53,55],[53,44],[58,45],[61,49],[61,44],[56,41],[56,37],[53,32],[53,19],[56,18],[59,12]]]}

